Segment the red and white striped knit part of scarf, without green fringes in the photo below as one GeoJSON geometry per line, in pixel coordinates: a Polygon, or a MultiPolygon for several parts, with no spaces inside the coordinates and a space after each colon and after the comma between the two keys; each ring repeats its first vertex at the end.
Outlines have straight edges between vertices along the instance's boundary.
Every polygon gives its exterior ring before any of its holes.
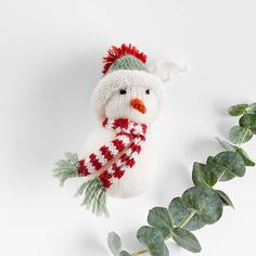
{"type": "Polygon", "coordinates": [[[145,141],[148,126],[130,121],[127,118],[106,118],[103,121],[103,127],[114,130],[116,132],[115,139],[102,145],[98,152],[90,154],[88,158],[79,161],[78,174],[88,176],[103,169],[99,179],[104,188],[108,189],[136,164],[141,146],[145,141]],[[117,156],[118,158],[115,159],[117,156]],[[115,161],[112,165],[104,170],[104,166],[113,159],[115,161]]]}

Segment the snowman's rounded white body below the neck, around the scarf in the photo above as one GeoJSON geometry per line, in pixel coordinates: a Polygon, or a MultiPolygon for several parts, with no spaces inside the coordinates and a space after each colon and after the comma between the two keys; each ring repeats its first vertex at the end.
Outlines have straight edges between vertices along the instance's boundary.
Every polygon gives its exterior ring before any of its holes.
{"type": "MultiPolygon", "coordinates": [[[[82,151],[84,156],[87,157],[91,152],[99,150],[103,144],[106,144],[114,138],[115,131],[103,127],[98,128],[88,137],[82,151]]],[[[149,130],[146,141],[143,144],[143,150],[135,166],[127,171],[121,179],[113,183],[113,185],[107,190],[108,195],[121,199],[136,197],[153,184],[158,175],[158,157],[154,141],[154,137],[151,130],[149,130]]],[[[116,161],[116,158],[114,161],[116,161]]],[[[104,166],[101,170],[94,174],[94,176],[99,176],[107,167],[108,165],[104,166]]]]}

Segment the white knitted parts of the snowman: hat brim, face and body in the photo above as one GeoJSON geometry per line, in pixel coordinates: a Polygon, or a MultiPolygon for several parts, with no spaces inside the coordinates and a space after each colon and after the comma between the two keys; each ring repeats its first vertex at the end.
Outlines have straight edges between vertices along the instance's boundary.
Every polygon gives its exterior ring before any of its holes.
{"type": "MultiPolygon", "coordinates": [[[[162,107],[163,88],[163,81],[152,74],[121,69],[104,76],[94,89],[91,102],[100,121],[103,121],[105,117],[128,118],[131,121],[149,126],[146,141],[135,166],[107,190],[107,194],[112,196],[138,196],[153,183],[158,175],[157,152],[150,128],[162,107]],[[120,94],[120,90],[126,90],[126,93],[120,94]],[[146,90],[150,90],[150,94],[146,93],[146,90]],[[137,98],[141,99],[146,107],[144,114],[130,105],[130,101],[137,98]]],[[[84,156],[95,152],[101,145],[114,138],[115,132],[113,130],[103,127],[97,129],[88,138],[84,156]]],[[[101,172],[98,171],[95,176],[101,172]]]]}

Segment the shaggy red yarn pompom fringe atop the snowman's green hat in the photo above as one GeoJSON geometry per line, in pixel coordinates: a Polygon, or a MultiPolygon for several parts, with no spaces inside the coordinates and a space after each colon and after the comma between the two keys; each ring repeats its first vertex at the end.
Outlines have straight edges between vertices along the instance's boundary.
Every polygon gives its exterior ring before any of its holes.
{"type": "Polygon", "coordinates": [[[104,63],[104,69],[103,74],[106,74],[107,71],[110,69],[111,65],[120,56],[124,55],[133,55],[143,63],[146,62],[146,55],[143,52],[140,52],[136,47],[132,47],[130,43],[126,46],[123,43],[119,48],[118,47],[112,47],[107,51],[107,56],[103,57],[103,63],[104,63]]]}

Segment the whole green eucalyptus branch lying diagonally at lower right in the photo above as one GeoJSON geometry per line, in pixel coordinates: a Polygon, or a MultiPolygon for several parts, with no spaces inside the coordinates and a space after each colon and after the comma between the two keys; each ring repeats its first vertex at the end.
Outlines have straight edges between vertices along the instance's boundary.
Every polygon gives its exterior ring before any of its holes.
{"type": "Polygon", "coordinates": [[[110,233],[107,243],[114,256],[138,256],[145,253],[151,256],[168,256],[165,241],[170,238],[192,253],[201,252],[201,245],[192,231],[217,222],[222,216],[223,206],[233,207],[230,197],[223,191],[216,190],[215,185],[243,177],[246,167],[255,165],[241,144],[256,135],[256,103],[234,105],[228,112],[231,116],[241,116],[239,125],[230,129],[232,143],[217,138],[225,151],[209,156],[205,164],[194,163],[194,187],[184,191],[181,197],[172,199],[168,208],[154,207],[149,212],[149,226],[141,227],[137,233],[145,248],[129,254],[121,251],[119,235],[110,233]]]}

